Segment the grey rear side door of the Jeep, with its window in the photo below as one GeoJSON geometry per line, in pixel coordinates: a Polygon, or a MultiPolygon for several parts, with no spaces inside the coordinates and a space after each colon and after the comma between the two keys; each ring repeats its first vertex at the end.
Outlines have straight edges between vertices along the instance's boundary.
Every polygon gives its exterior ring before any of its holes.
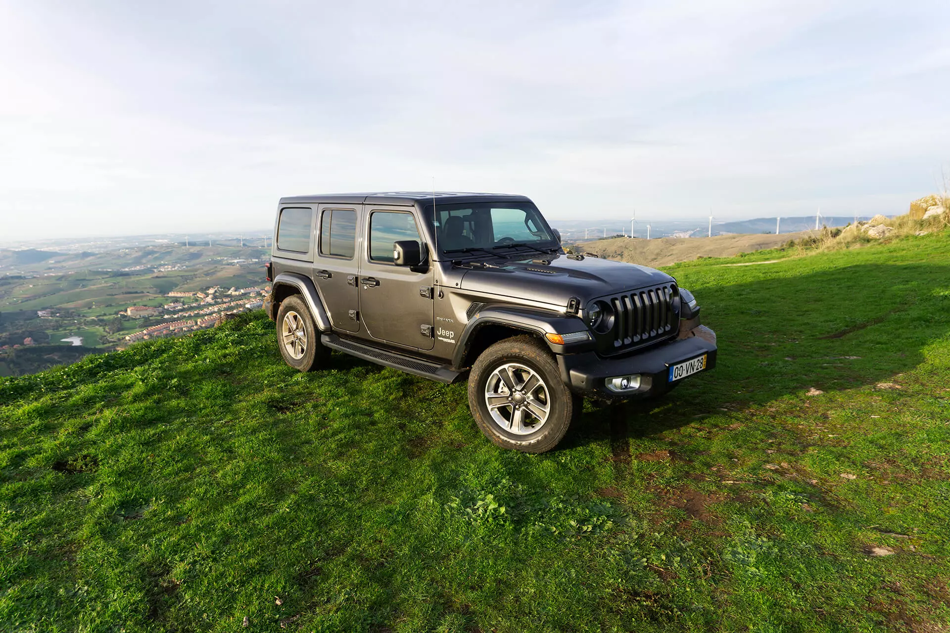
{"type": "Polygon", "coordinates": [[[359,330],[356,235],[362,205],[321,204],[317,213],[314,285],[335,329],[359,330]]]}

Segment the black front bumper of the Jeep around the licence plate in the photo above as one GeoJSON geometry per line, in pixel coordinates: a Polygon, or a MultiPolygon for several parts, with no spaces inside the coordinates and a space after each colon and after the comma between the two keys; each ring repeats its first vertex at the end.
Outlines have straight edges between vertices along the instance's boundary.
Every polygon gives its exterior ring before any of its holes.
{"type": "MultiPolygon", "coordinates": [[[[572,391],[582,395],[598,395],[610,399],[635,399],[657,396],[669,391],[670,365],[683,363],[707,354],[706,368],[702,374],[715,366],[715,333],[706,326],[696,326],[681,331],[679,338],[652,349],[624,358],[603,358],[596,352],[564,354],[558,356],[561,368],[561,380],[572,391]],[[608,378],[614,376],[640,375],[640,385],[636,390],[616,393],[606,386],[608,378]]],[[[693,374],[696,375],[696,374],[693,374]]],[[[679,379],[680,382],[688,379],[679,379]]]]}

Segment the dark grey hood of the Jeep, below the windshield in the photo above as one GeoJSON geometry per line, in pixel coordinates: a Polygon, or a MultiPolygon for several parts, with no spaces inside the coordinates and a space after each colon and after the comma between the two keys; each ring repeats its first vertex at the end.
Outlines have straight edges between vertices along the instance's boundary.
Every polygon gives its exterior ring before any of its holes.
{"type": "Polygon", "coordinates": [[[665,272],[645,266],[591,256],[577,260],[563,253],[538,253],[498,266],[466,270],[460,288],[564,306],[571,297],[578,297],[583,305],[604,295],[673,281],[665,272]]]}

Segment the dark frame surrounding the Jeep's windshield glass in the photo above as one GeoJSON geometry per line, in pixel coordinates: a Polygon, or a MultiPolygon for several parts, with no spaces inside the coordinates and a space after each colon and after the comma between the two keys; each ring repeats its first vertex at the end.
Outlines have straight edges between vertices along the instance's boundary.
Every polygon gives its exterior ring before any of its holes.
{"type": "MultiPolygon", "coordinates": [[[[495,256],[503,259],[511,259],[514,255],[518,254],[518,251],[514,249],[523,249],[524,251],[536,252],[534,249],[549,249],[555,250],[561,248],[561,243],[558,241],[557,235],[554,233],[554,230],[551,228],[551,225],[548,224],[547,219],[544,217],[544,214],[541,213],[541,210],[531,202],[530,200],[478,200],[472,202],[447,202],[445,204],[436,203],[435,205],[429,204],[426,207],[426,216],[430,222],[429,229],[432,232],[432,236],[435,241],[435,249],[433,259],[436,261],[447,261],[447,260],[459,260],[459,259],[478,259],[488,257],[489,254],[494,254],[495,256]],[[525,240],[525,239],[515,239],[514,243],[517,244],[526,244],[529,246],[521,247],[511,247],[506,244],[497,244],[493,243],[492,245],[477,246],[473,245],[470,250],[460,251],[457,250],[453,245],[447,244],[444,245],[440,242],[440,233],[441,227],[438,224],[439,212],[445,211],[459,211],[459,210],[468,210],[471,209],[474,211],[483,211],[491,208],[499,209],[520,209],[523,210],[526,214],[533,214],[533,219],[538,225],[538,228],[547,235],[546,238],[536,239],[536,240],[525,240]],[[495,251],[499,249],[499,251],[495,251]],[[451,252],[445,252],[449,250],[451,252]]],[[[494,231],[494,225],[492,225],[492,230],[494,231]]],[[[494,237],[494,236],[493,236],[494,237]]]]}

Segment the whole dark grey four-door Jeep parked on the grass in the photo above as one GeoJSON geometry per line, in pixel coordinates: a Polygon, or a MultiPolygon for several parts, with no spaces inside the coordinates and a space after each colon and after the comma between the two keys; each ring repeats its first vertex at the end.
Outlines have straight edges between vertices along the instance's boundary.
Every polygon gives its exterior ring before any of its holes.
{"type": "Polygon", "coordinates": [[[582,398],[666,393],[715,365],[693,295],[643,266],[568,254],[523,195],[284,197],[271,294],[284,361],[335,349],[439,382],[468,378],[495,444],[554,448],[582,398]]]}

